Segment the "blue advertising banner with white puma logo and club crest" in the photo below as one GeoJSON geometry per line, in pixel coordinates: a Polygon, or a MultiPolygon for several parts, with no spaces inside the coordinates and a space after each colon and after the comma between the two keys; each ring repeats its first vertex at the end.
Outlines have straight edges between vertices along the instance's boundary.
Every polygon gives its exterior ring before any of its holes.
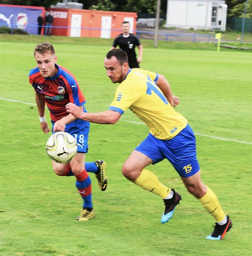
{"type": "Polygon", "coordinates": [[[11,28],[11,25],[15,25],[13,28],[19,28],[27,31],[29,34],[37,34],[38,25],[37,19],[39,14],[43,12],[41,9],[33,9],[24,7],[15,7],[13,5],[0,5],[0,26],[6,26],[11,28]],[[5,25],[6,24],[6,25],[5,25]],[[32,27],[30,27],[32,25],[32,27]],[[34,27],[33,27],[34,26],[34,27]]]}

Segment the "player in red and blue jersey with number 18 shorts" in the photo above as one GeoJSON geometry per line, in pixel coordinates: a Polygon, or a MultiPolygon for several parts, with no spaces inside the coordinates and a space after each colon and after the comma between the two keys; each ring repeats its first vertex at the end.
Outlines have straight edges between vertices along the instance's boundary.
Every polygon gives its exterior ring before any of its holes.
{"type": "Polygon", "coordinates": [[[59,176],[75,176],[76,187],[83,198],[83,210],[76,220],[89,220],[94,216],[92,204],[91,179],[88,172],[94,172],[102,191],[107,187],[105,176],[106,164],[103,160],[85,163],[85,153],[88,152],[88,132],[90,123],[76,119],[68,114],[65,105],[76,104],[81,111],[86,112],[85,97],[82,94],[75,77],[64,67],[56,64],[57,56],[50,43],[41,43],[34,48],[34,58],[37,67],[31,69],[29,82],[35,90],[35,99],[39,112],[41,129],[48,133],[49,127],[45,120],[45,104],[50,111],[52,132],[68,132],[77,141],[77,154],[70,163],[61,164],[52,161],[54,172],[59,176]]]}

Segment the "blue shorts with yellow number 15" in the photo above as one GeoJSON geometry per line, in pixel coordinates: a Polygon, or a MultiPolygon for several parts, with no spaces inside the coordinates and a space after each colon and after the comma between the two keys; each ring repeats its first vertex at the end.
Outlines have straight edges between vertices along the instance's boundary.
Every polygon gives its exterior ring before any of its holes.
{"type": "Polygon", "coordinates": [[[190,177],[200,170],[195,136],[188,124],[170,140],[159,140],[149,134],[135,150],[148,156],[153,164],[167,158],[181,177],[190,177]]]}

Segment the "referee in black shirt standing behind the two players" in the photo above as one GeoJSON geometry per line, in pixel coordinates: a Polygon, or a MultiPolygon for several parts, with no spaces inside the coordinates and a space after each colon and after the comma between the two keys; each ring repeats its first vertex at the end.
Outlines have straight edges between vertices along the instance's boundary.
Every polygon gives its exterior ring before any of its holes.
{"type": "Polygon", "coordinates": [[[129,67],[130,68],[140,68],[139,63],[142,61],[143,47],[140,43],[138,37],[129,32],[129,22],[124,21],[122,23],[123,33],[118,35],[110,48],[110,50],[115,49],[119,45],[120,49],[127,53],[129,67]],[[136,58],[135,46],[139,49],[138,58],[136,58]]]}

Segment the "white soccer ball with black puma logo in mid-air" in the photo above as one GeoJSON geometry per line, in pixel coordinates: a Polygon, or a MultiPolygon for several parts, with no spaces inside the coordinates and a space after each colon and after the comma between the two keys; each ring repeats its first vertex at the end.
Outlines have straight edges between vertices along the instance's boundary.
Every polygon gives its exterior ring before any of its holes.
{"type": "Polygon", "coordinates": [[[77,143],[67,132],[55,132],[46,142],[48,156],[57,163],[68,163],[77,153],[77,143]]]}

